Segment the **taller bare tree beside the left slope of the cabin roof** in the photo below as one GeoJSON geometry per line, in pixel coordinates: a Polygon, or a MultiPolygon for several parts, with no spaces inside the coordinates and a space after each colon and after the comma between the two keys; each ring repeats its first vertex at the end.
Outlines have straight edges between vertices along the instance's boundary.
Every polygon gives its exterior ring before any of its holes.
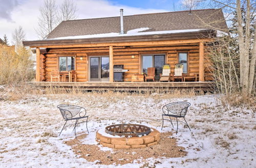
{"type": "Polygon", "coordinates": [[[39,12],[36,32],[40,39],[44,39],[59,23],[56,0],[45,0],[39,12]]]}

